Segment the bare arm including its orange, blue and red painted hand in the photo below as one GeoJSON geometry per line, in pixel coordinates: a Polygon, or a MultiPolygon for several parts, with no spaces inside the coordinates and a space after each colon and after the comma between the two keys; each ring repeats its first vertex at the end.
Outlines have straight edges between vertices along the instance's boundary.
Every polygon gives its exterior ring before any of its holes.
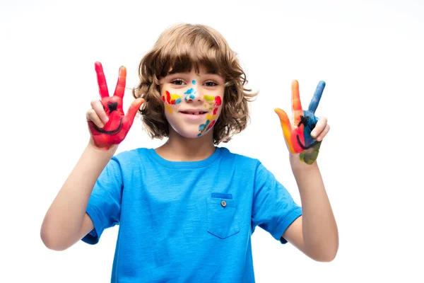
{"type": "Polygon", "coordinates": [[[317,261],[333,260],[338,250],[336,220],[315,162],[321,141],[329,132],[326,118],[318,119],[314,115],[324,87],[324,81],[320,81],[309,108],[302,110],[299,84],[293,81],[293,125],[290,125],[288,115],[276,108],[302,202],[302,216],[286,229],[283,238],[317,261]]]}

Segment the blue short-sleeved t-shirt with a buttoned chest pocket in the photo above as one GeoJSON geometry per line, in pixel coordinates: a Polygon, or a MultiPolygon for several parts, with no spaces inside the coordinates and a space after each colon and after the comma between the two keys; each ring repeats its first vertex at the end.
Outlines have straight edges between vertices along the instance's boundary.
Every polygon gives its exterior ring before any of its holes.
{"type": "Polygon", "coordinates": [[[154,149],[114,156],[87,213],[98,243],[119,224],[111,282],[254,282],[256,226],[281,238],[301,214],[257,159],[216,151],[202,161],[167,161],[154,149]]]}

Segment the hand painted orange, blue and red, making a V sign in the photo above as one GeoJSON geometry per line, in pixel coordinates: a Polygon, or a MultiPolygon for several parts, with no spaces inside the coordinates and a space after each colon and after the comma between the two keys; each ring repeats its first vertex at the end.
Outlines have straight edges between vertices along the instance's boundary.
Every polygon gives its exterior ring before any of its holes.
{"type": "Polygon", "coordinates": [[[285,144],[290,154],[300,154],[300,161],[307,164],[312,164],[317,160],[321,141],[330,129],[329,125],[326,123],[327,120],[325,117],[318,119],[318,117],[315,116],[315,110],[317,110],[324,88],[324,81],[320,81],[312,97],[309,108],[307,110],[302,110],[299,83],[298,81],[293,81],[293,125],[290,124],[290,120],[283,110],[280,108],[275,109],[275,112],[280,118],[285,144]]]}

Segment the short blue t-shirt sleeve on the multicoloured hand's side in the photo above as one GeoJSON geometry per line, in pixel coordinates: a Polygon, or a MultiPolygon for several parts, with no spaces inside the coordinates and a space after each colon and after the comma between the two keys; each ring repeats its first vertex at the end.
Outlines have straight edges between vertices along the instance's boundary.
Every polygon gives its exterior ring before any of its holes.
{"type": "Polygon", "coordinates": [[[259,163],[254,180],[252,233],[259,226],[276,240],[287,243],[282,235],[300,215],[302,209],[294,202],[288,190],[259,163]]]}

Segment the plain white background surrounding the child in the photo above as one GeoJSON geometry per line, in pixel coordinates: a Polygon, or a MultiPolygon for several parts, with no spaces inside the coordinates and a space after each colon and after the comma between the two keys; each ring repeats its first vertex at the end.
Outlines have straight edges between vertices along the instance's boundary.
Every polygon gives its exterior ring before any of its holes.
{"type": "MultiPolygon", "coordinates": [[[[228,40],[259,90],[252,122],[227,146],[259,158],[300,203],[273,108],[304,108],[331,130],[319,156],[338,229],[333,262],[314,262],[262,229],[252,236],[257,282],[424,282],[423,1],[5,1],[0,4],[1,282],[110,282],[117,227],[62,252],[42,219],[88,141],[98,98],[119,66],[137,83],[143,54],[169,25],[204,23],[228,40]]],[[[124,109],[133,100],[127,91],[124,109]]],[[[119,151],[155,147],[136,120],[119,151]]]]}

